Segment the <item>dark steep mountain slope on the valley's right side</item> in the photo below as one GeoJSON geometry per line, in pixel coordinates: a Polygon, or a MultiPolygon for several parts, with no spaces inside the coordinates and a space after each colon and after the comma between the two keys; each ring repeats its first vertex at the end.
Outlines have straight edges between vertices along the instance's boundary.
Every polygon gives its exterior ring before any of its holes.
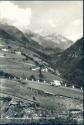
{"type": "Polygon", "coordinates": [[[84,85],[83,69],[84,69],[84,55],[83,55],[83,40],[79,39],[70,48],[66,49],[56,60],[54,60],[53,67],[58,69],[65,79],[75,85],[84,85]]]}

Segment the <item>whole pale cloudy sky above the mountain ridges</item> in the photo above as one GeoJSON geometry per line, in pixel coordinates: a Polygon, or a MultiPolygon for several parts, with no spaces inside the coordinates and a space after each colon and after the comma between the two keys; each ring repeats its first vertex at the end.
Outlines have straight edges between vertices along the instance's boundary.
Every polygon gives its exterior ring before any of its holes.
{"type": "Polygon", "coordinates": [[[0,22],[41,35],[83,36],[82,1],[0,1],[0,22]]]}

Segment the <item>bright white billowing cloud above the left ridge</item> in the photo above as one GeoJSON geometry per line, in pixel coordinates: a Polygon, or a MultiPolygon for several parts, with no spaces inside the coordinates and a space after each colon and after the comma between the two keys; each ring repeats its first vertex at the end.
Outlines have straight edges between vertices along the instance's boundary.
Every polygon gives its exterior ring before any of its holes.
{"type": "Polygon", "coordinates": [[[31,21],[31,8],[20,8],[10,1],[0,2],[0,20],[18,28],[26,28],[31,21]]]}

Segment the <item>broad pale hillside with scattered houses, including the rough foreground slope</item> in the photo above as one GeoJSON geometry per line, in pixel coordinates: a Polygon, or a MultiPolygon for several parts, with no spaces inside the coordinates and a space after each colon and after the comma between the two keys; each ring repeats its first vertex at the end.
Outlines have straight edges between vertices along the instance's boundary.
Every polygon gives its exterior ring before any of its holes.
{"type": "Polygon", "coordinates": [[[0,124],[82,123],[82,89],[65,87],[50,60],[62,53],[45,49],[16,27],[0,25],[0,124]],[[61,85],[52,85],[53,80],[61,85]],[[80,112],[76,120],[70,110],[80,112]]]}

